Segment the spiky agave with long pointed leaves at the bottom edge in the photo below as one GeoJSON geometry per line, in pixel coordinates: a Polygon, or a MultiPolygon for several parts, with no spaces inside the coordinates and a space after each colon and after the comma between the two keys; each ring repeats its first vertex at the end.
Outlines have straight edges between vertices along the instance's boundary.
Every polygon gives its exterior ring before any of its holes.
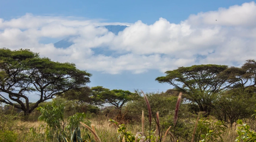
{"type": "Polygon", "coordinates": [[[93,142],[91,141],[90,135],[87,135],[89,136],[89,140],[82,140],[81,130],[79,127],[76,127],[76,129],[73,132],[71,131],[70,138],[68,138],[65,133],[63,133],[62,135],[59,134],[57,138],[58,142],[93,142]],[[61,138],[63,139],[63,141],[61,138]]]}

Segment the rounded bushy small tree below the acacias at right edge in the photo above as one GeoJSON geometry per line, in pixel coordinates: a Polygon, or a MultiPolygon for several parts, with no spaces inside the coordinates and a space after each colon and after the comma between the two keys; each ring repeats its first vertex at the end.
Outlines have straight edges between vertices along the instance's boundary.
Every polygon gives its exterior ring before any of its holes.
{"type": "Polygon", "coordinates": [[[213,104],[215,107],[212,114],[232,128],[233,123],[238,119],[251,117],[256,109],[256,96],[248,93],[248,91],[232,89],[220,93],[213,104]]]}

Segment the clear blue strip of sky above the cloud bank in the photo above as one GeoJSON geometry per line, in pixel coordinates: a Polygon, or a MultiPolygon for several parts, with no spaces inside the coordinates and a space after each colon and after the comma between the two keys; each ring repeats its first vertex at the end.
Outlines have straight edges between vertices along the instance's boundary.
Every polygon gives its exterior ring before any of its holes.
{"type": "Polygon", "coordinates": [[[179,23],[190,14],[217,10],[219,7],[241,5],[246,0],[2,0],[0,2],[0,17],[9,19],[23,16],[26,13],[34,15],[76,16],[89,19],[105,19],[107,22],[153,24],[160,17],[170,22],[179,23]]]}

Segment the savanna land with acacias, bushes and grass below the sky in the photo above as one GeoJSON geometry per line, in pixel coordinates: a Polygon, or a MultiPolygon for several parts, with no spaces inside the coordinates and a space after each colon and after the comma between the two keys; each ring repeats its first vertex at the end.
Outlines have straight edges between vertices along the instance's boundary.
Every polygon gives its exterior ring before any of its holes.
{"type": "Polygon", "coordinates": [[[166,92],[88,87],[91,75],[1,48],[0,141],[256,141],[253,59],[166,71],[155,79],[174,87],[166,92]]]}

